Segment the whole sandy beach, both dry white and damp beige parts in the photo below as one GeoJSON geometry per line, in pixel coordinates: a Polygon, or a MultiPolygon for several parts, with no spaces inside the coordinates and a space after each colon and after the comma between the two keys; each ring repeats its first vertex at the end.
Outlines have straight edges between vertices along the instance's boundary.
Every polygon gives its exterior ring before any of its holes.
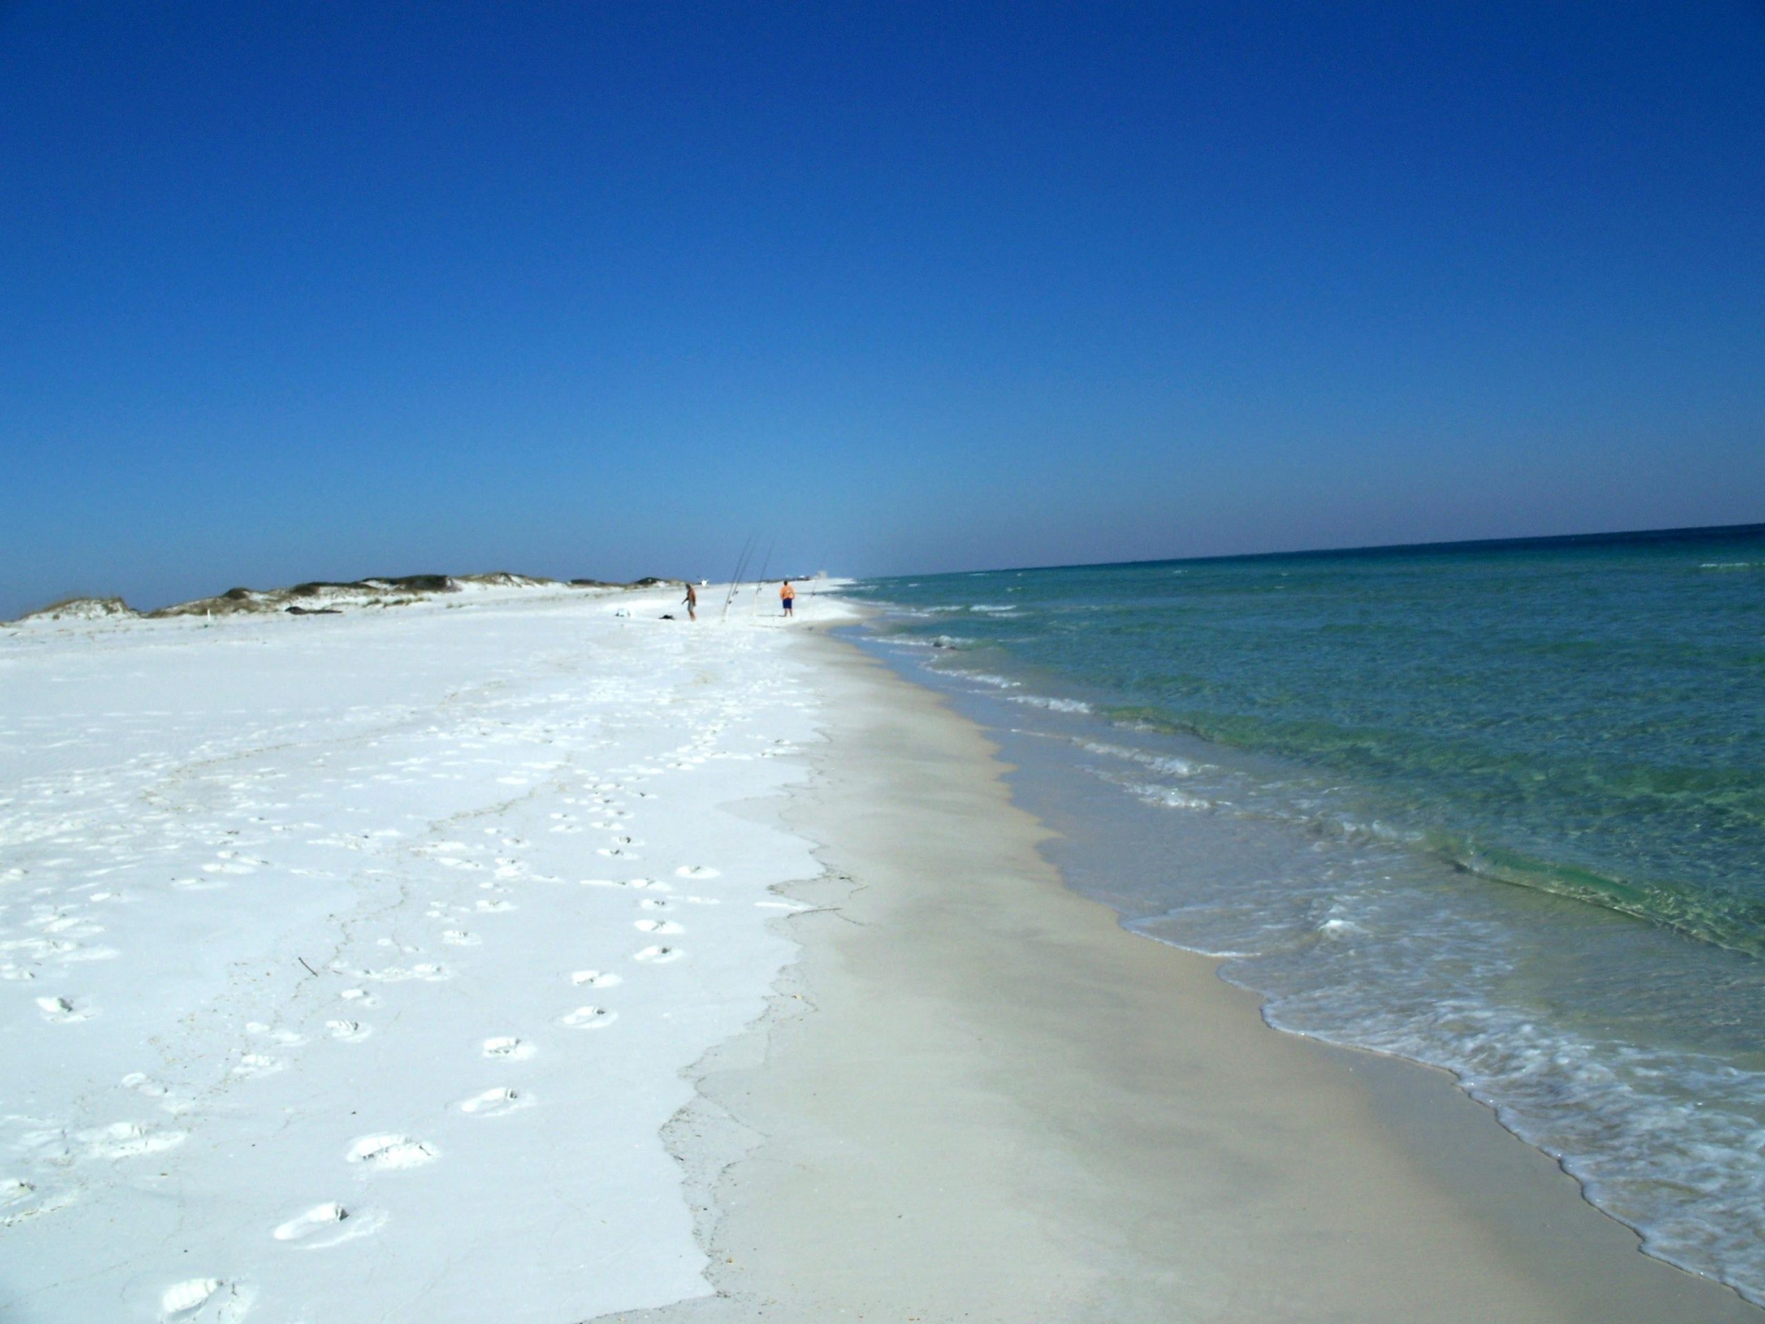
{"type": "Polygon", "coordinates": [[[0,1315],[1761,1317],[1066,891],[851,607],[676,600],[0,632],[0,1315]]]}

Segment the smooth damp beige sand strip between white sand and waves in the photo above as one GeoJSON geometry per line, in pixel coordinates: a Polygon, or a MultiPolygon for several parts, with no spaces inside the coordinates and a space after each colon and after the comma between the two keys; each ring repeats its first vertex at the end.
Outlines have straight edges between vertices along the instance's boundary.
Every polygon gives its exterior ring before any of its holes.
{"type": "Polygon", "coordinates": [[[805,952],[671,1126],[718,1294],[621,1320],[1749,1320],[1451,1080],[1267,1029],[1038,851],[992,745],[814,641],[805,952]]]}

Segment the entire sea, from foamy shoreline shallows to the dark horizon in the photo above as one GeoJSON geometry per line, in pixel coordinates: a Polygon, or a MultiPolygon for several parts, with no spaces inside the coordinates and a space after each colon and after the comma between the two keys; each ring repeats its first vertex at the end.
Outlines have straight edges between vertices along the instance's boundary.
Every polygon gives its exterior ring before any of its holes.
{"type": "Polygon", "coordinates": [[[1765,1303],[1765,526],[854,593],[1075,886],[1765,1303]]]}

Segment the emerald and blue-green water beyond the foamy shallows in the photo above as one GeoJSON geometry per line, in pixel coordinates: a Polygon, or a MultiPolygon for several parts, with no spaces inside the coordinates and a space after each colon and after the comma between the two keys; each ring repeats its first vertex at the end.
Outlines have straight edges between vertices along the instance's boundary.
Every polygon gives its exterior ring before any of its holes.
{"type": "MultiPolygon", "coordinates": [[[[1765,952],[1765,533],[874,581],[1458,863],[1765,952]]],[[[913,620],[913,618],[909,618],[913,620]]]]}

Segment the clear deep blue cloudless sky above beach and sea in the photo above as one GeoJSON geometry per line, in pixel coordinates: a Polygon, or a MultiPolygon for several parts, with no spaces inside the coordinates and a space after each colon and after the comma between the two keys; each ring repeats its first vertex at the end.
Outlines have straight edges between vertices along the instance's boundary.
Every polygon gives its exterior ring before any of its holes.
{"type": "Polygon", "coordinates": [[[0,616],[1765,519],[1765,5],[5,4],[0,616]]]}

